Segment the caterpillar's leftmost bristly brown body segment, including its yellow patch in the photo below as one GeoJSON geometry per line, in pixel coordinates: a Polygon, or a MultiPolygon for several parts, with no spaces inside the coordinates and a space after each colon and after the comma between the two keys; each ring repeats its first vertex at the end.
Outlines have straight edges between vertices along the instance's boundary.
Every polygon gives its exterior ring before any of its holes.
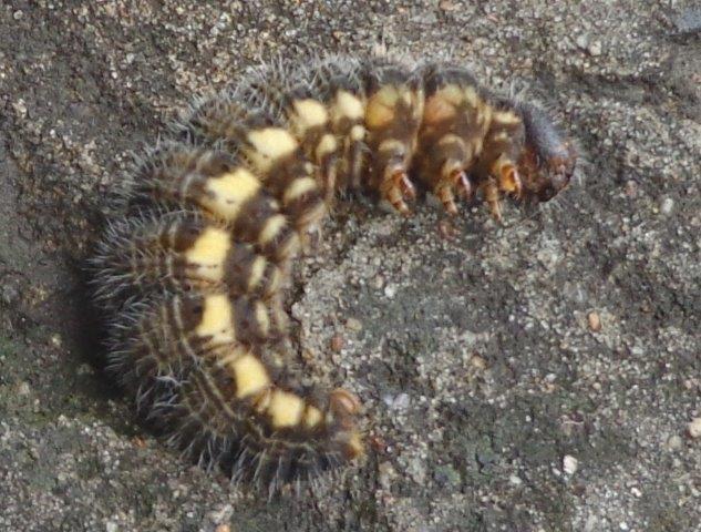
{"type": "Polygon", "coordinates": [[[266,299],[284,279],[275,263],[236,242],[226,226],[187,212],[113,224],[93,267],[95,296],[104,303],[217,287],[266,299]]]}

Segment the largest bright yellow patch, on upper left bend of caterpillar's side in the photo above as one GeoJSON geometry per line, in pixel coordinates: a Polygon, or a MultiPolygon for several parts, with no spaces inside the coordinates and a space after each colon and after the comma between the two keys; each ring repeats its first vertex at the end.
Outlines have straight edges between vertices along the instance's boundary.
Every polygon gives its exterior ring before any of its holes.
{"type": "Polygon", "coordinates": [[[205,208],[227,222],[233,222],[241,205],[258,194],[260,182],[247,170],[237,168],[220,177],[207,180],[205,190],[207,194],[200,200],[205,208]]]}

